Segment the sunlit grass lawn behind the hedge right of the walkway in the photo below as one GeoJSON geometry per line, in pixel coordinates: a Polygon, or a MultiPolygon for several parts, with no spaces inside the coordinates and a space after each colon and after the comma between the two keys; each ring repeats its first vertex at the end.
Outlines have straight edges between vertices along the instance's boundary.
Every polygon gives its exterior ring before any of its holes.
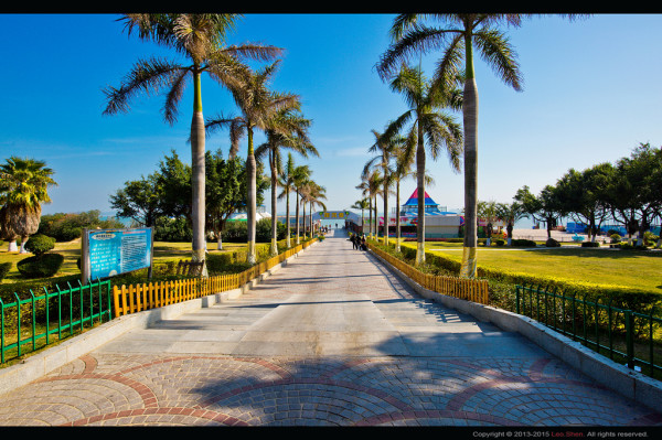
{"type": "MultiPolygon", "coordinates": [[[[404,246],[416,248],[416,243],[404,246]]],[[[428,242],[426,250],[462,259],[461,243],[428,242]]],[[[511,272],[548,276],[568,281],[626,286],[662,293],[662,251],[583,248],[478,248],[478,265],[511,272]]]]}

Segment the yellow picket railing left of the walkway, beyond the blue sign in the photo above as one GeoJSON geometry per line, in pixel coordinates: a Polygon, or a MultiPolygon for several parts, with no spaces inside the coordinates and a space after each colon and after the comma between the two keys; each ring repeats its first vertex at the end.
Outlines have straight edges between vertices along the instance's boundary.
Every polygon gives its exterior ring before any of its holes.
{"type": "Polygon", "coordinates": [[[298,245],[239,273],[206,278],[189,278],[142,285],[113,286],[113,311],[115,318],[143,310],[189,301],[213,293],[238,289],[261,273],[281,264],[292,255],[314,243],[317,238],[298,245]]]}

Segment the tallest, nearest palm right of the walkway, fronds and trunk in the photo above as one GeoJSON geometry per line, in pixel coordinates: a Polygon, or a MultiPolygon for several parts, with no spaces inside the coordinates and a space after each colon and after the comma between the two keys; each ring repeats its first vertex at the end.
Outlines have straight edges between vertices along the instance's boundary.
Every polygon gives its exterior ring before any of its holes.
{"type": "MultiPolygon", "coordinates": [[[[449,84],[465,71],[462,114],[465,130],[465,249],[460,275],[476,276],[477,236],[477,168],[478,168],[478,87],[473,71],[473,47],[481,53],[501,79],[515,90],[522,89],[516,55],[504,33],[495,29],[505,23],[520,26],[521,14],[453,13],[430,14],[445,23],[436,29],[418,22],[420,14],[398,15],[391,29],[394,44],[383,54],[377,72],[386,77],[397,68],[401,61],[413,53],[424,53],[441,47],[435,83],[449,84]],[[465,62],[462,66],[461,63],[465,62]]],[[[426,14],[427,17],[427,14],[426,14]]],[[[573,20],[577,15],[567,15],[573,20]]]]}

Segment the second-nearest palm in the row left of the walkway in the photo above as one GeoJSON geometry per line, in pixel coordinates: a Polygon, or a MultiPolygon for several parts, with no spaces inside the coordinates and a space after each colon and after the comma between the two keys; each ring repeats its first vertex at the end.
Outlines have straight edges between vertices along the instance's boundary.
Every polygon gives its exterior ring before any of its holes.
{"type": "MultiPolygon", "coordinates": [[[[264,68],[249,73],[244,76],[242,84],[232,87],[232,94],[236,105],[242,110],[239,118],[211,118],[206,122],[207,130],[225,126],[228,121],[235,124],[245,130],[248,137],[248,152],[246,159],[246,179],[248,191],[248,206],[246,210],[248,225],[247,257],[248,264],[254,265],[257,260],[255,251],[255,229],[256,229],[256,157],[253,142],[254,130],[269,129],[270,121],[278,111],[284,108],[292,108],[298,105],[299,97],[292,94],[279,94],[268,89],[268,82],[277,72],[279,61],[265,66],[264,68]],[[237,121],[241,121],[237,124],[237,121]]],[[[276,215],[276,213],[273,213],[276,215]]]]}

